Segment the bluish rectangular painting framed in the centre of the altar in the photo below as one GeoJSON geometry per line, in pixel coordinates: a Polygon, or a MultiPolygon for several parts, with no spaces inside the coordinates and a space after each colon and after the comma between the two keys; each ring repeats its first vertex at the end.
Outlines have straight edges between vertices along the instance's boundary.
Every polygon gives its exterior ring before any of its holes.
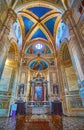
{"type": "Polygon", "coordinates": [[[35,86],[34,99],[35,101],[43,100],[43,87],[42,86],[35,86]]]}

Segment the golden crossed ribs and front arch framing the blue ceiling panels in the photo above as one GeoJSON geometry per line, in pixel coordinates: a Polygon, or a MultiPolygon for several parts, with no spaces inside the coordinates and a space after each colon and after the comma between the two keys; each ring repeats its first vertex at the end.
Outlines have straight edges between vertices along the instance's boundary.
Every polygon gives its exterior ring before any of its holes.
{"type": "MultiPolygon", "coordinates": [[[[59,2],[61,3],[61,2],[59,2]]],[[[64,13],[64,8],[60,8],[62,7],[62,3],[60,4],[60,6],[58,7],[58,4],[52,4],[51,2],[38,2],[38,1],[32,1],[32,2],[28,2],[28,5],[25,5],[25,2],[23,2],[23,5],[20,7],[17,7],[15,9],[16,13],[18,14],[18,20],[20,22],[20,24],[22,25],[21,29],[22,29],[22,35],[23,35],[23,45],[22,45],[22,49],[24,48],[25,44],[28,41],[31,41],[32,36],[36,33],[36,31],[38,29],[42,30],[42,32],[44,33],[44,35],[46,35],[48,41],[50,41],[50,43],[53,46],[53,51],[54,53],[56,53],[56,47],[55,47],[55,35],[57,33],[57,26],[59,24],[59,21],[61,20],[61,16],[64,13]],[[50,4],[49,4],[50,3],[50,4]],[[51,9],[51,11],[47,12],[46,14],[44,14],[40,19],[35,16],[35,13],[32,13],[30,10],[28,10],[29,8],[33,8],[33,7],[45,7],[45,8],[49,8],[51,9]],[[30,15],[31,14],[31,15],[30,15]],[[33,20],[31,22],[32,26],[31,28],[28,30],[28,33],[25,35],[25,30],[24,30],[24,22],[22,21],[21,16],[24,15],[27,18],[31,17],[31,20],[33,20]],[[46,18],[47,17],[47,18],[46,18]],[[48,21],[51,20],[52,18],[56,17],[56,20],[54,21],[54,30],[53,33],[54,35],[52,36],[51,34],[51,30],[49,28],[49,23],[48,21]],[[40,21],[39,21],[40,20],[40,21]],[[47,25],[45,25],[45,23],[47,23],[47,25]]],[[[30,21],[30,20],[29,20],[30,21]]],[[[38,39],[37,39],[38,40],[38,39]]],[[[44,40],[44,39],[43,39],[44,40]]]]}

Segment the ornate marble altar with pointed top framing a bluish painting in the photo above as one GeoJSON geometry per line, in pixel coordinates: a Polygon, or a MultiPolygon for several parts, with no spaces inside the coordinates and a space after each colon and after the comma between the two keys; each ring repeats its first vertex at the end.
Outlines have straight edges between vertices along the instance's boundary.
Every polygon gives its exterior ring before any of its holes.
{"type": "Polygon", "coordinates": [[[30,93],[27,104],[28,114],[50,113],[47,83],[48,81],[39,73],[30,81],[30,93]]]}

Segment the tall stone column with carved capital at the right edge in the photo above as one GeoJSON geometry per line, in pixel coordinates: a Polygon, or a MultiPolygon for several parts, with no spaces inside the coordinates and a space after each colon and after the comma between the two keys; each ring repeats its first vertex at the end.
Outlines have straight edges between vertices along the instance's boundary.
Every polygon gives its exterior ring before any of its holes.
{"type": "Polygon", "coordinates": [[[78,83],[84,87],[84,47],[76,23],[72,17],[72,13],[67,10],[63,15],[63,21],[68,25],[70,32],[70,40],[68,49],[71,55],[72,63],[76,71],[78,83]]]}

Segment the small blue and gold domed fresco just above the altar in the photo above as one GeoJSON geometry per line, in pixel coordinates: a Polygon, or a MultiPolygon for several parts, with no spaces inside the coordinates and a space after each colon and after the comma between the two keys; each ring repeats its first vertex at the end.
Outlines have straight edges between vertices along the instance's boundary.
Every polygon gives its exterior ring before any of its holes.
{"type": "Polygon", "coordinates": [[[35,60],[30,63],[30,68],[33,70],[45,70],[48,68],[48,64],[44,60],[35,60]]]}

